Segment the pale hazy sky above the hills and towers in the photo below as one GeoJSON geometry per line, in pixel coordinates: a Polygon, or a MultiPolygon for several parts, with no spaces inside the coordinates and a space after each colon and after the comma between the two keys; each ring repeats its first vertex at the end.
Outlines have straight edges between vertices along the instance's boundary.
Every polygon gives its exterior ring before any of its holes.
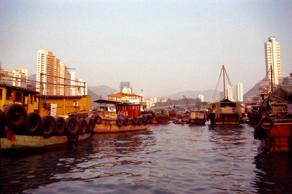
{"type": "Polygon", "coordinates": [[[0,0],[3,69],[35,74],[45,49],[89,86],[128,81],[146,97],[215,89],[222,65],[245,93],[270,36],[289,76],[292,0],[0,0]]]}

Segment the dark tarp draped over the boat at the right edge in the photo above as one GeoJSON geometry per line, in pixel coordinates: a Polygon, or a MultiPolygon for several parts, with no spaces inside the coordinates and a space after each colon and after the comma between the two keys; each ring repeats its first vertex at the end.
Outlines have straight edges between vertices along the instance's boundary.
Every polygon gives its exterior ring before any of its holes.
{"type": "Polygon", "coordinates": [[[264,111],[271,109],[271,101],[292,104],[292,86],[282,86],[270,93],[269,96],[262,102],[260,110],[264,111]]]}

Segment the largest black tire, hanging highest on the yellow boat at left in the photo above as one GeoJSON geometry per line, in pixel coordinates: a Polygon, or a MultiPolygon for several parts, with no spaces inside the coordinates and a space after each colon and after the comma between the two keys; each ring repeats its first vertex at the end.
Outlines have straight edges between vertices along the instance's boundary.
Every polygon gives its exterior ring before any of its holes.
{"type": "Polygon", "coordinates": [[[12,130],[22,129],[27,118],[26,111],[22,105],[8,105],[4,112],[6,125],[12,130]]]}

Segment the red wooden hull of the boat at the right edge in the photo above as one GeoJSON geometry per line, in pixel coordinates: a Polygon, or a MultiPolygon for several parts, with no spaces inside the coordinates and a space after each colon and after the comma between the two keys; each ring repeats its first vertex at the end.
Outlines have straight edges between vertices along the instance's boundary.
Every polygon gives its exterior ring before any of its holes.
{"type": "MultiPolygon", "coordinates": [[[[262,129],[263,130],[263,129],[262,129]]],[[[264,130],[261,146],[270,152],[292,151],[292,121],[289,123],[274,123],[271,130],[264,130]]]]}

